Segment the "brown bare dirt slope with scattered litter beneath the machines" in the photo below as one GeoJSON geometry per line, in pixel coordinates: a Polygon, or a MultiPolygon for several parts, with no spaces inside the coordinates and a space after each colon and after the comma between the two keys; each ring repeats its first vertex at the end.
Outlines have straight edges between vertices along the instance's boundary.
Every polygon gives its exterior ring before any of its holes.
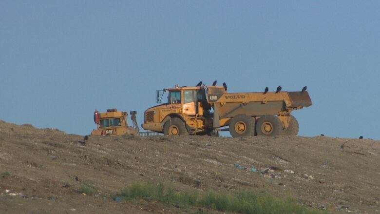
{"type": "Polygon", "coordinates": [[[0,213],[181,212],[110,198],[139,181],[196,191],[249,189],[334,213],[380,213],[380,141],[326,136],[78,140],[83,136],[0,120],[0,213]],[[81,183],[93,183],[99,193],[82,195],[81,183]]]}

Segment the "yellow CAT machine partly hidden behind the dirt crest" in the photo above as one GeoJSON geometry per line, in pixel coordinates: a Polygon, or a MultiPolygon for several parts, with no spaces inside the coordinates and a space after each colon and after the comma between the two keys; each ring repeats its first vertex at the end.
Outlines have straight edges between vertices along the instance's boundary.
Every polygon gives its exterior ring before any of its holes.
{"type": "Polygon", "coordinates": [[[91,132],[91,135],[119,136],[138,134],[138,130],[128,125],[127,112],[108,109],[105,113],[99,113],[95,110],[94,122],[96,129],[91,132]]]}

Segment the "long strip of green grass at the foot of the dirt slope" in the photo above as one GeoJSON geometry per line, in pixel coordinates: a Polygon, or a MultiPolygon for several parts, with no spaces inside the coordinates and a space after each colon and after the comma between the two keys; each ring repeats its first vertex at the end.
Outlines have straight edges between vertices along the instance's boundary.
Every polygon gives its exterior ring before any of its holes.
{"type": "Polygon", "coordinates": [[[177,208],[203,207],[224,212],[241,214],[322,214],[325,212],[302,207],[292,199],[280,200],[270,195],[252,191],[239,191],[231,194],[220,192],[197,193],[176,191],[172,185],[136,183],[127,187],[113,198],[126,200],[144,199],[158,201],[177,208]]]}

